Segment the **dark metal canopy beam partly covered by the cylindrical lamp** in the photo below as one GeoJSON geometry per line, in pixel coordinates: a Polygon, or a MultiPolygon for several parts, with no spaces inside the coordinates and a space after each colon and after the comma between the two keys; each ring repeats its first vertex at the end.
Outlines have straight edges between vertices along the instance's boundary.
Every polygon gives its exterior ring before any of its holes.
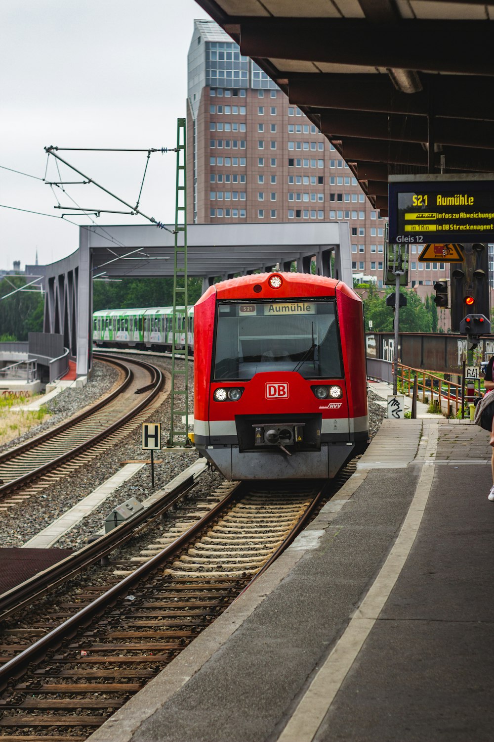
{"type": "Polygon", "coordinates": [[[494,121],[494,108],[485,105],[486,100],[494,99],[493,78],[427,75],[421,80],[424,91],[407,95],[397,91],[387,75],[289,75],[288,98],[294,105],[312,108],[314,115],[324,114],[324,108],[343,108],[427,116],[430,95],[436,115],[494,121]]]}

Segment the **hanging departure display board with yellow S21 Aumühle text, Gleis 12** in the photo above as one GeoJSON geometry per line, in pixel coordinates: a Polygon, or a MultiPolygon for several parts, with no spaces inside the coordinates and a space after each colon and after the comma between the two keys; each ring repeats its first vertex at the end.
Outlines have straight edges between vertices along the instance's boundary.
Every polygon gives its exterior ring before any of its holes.
{"type": "Polygon", "coordinates": [[[425,247],[494,240],[494,174],[475,180],[458,175],[409,177],[390,178],[390,243],[425,247]]]}

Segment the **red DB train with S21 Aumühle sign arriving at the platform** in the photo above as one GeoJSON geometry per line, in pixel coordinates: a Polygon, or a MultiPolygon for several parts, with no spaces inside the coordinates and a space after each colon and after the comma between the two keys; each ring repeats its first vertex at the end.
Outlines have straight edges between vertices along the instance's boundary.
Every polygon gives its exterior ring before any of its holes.
{"type": "Polygon", "coordinates": [[[233,278],[194,324],[194,442],[226,479],[325,479],[365,449],[364,318],[345,283],[233,278]]]}

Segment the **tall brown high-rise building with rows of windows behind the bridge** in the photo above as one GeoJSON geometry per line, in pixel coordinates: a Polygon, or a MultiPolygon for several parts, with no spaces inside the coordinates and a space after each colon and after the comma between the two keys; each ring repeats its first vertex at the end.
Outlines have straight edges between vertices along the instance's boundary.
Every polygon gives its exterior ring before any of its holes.
{"type": "MultiPolygon", "coordinates": [[[[187,150],[188,223],[346,221],[353,274],[383,287],[386,220],[333,145],[214,21],[194,22],[187,150]]],[[[444,263],[416,257],[411,284],[431,293],[444,263]]]]}

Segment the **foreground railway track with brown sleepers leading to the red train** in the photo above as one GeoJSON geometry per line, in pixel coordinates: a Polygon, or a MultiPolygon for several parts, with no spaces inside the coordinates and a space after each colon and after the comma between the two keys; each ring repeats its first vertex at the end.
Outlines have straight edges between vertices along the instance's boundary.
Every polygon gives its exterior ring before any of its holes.
{"type": "Polygon", "coordinates": [[[286,548],[321,496],[300,483],[288,491],[225,483],[139,557],[114,564],[108,589],[87,585],[61,602],[53,631],[41,617],[7,630],[0,739],[89,736],[286,548]]]}

